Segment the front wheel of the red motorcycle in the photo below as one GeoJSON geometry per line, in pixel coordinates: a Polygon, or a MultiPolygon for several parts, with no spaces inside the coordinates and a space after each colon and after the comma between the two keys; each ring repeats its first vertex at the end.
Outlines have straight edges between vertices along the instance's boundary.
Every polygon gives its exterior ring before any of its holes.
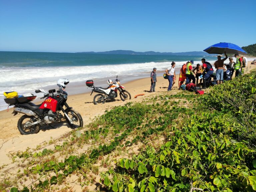
{"type": "Polygon", "coordinates": [[[71,119],[72,123],[68,120],[68,118],[65,116],[67,123],[71,127],[71,129],[75,129],[78,127],[83,127],[84,122],[79,112],[77,112],[74,109],[69,109],[66,111],[69,119],[71,119]]]}

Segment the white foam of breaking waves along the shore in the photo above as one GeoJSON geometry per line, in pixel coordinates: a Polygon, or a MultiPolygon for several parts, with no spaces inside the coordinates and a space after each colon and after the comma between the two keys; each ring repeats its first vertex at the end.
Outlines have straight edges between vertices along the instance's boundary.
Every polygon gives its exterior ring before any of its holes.
{"type": "MultiPolygon", "coordinates": [[[[176,62],[176,68],[186,61],[176,62]]],[[[201,63],[201,61],[194,61],[201,63]]],[[[195,65],[194,64],[194,65],[195,65]]],[[[56,85],[59,78],[70,82],[82,82],[88,79],[104,79],[110,76],[138,76],[149,73],[154,67],[158,71],[171,66],[170,61],[134,64],[74,66],[74,67],[5,67],[0,69],[0,110],[6,109],[3,92],[17,91],[19,95],[41,88],[56,85]]]]}

